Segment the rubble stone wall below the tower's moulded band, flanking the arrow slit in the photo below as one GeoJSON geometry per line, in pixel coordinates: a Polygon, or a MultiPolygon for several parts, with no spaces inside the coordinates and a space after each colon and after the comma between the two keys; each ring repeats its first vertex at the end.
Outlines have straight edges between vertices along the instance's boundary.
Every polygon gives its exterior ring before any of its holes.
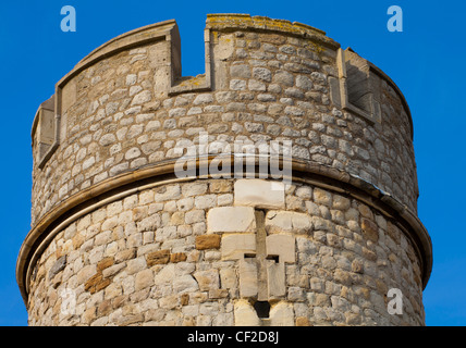
{"type": "MultiPolygon", "coordinates": [[[[271,324],[424,323],[419,264],[396,222],[318,187],[291,185],[283,196],[282,209],[266,210],[266,229],[293,237],[294,260],[285,263],[285,293],[271,301],[271,324]],[[387,311],[392,287],[404,295],[403,315],[387,311]]],[[[254,208],[234,200],[234,181],[173,184],[72,223],[36,265],[29,324],[259,325],[241,296],[241,262],[225,252],[229,237],[254,232],[233,219],[254,208]],[[230,232],[210,231],[216,212],[230,232]],[[65,290],[76,300],[69,314],[65,290]]]]}

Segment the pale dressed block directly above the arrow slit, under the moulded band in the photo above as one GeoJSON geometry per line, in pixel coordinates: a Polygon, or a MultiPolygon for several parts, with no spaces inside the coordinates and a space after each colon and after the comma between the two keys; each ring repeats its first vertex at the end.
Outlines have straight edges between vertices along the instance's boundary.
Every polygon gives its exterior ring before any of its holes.
{"type": "Polygon", "coordinates": [[[282,209],[285,207],[284,184],[255,178],[238,179],[234,184],[234,204],[282,209]]]}

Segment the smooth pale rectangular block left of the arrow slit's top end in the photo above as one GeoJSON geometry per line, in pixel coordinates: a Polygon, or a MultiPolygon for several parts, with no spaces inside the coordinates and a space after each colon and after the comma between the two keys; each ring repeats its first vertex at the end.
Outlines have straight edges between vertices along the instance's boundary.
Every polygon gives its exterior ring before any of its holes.
{"type": "Polygon", "coordinates": [[[256,222],[250,207],[218,207],[207,214],[207,231],[214,232],[254,232],[256,222]]]}

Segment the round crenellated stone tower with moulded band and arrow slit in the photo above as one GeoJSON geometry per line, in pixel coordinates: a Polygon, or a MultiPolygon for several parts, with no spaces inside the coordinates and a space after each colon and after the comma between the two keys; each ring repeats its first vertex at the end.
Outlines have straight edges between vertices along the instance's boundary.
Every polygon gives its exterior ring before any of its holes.
{"type": "Polygon", "coordinates": [[[205,51],[183,77],[174,21],[132,30],[39,107],[29,325],[424,325],[396,85],[301,23],[208,15],[205,51]]]}

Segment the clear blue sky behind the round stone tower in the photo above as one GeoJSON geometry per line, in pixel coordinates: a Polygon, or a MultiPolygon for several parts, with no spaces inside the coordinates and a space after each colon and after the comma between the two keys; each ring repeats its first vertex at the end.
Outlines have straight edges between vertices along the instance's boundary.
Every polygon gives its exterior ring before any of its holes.
{"type": "Polygon", "coordinates": [[[149,1],[47,0],[0,3],[0,325],[26,325],[15,263],[29,231],[30,126],[54,84],[93,49],[127,30],[175,18],[183,74],[204,73],[207,13],[249,13],[312,25],[351,46],[398,85],[413,113],[419,217],[433,241],[424,293],[428,325],[466,325],[465,1],[149,1]],[[390,5],[403,9],[403,33],[387,29],[390,5]],[[60,29],[63,5],[76,9],[76,33],[60,29]]]}

